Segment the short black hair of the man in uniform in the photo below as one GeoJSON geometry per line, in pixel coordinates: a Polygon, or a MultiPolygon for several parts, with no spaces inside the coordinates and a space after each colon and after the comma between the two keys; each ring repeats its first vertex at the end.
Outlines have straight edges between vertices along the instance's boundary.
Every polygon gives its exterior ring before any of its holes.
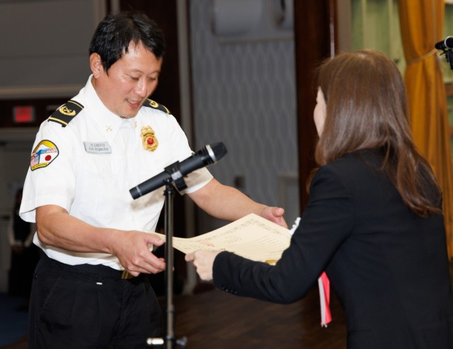
{"type": "Polygon", "coordinates": [[[108,71],[112,64],[121,59],[123,52],[128,52],[130,42],[142,44],[157,59],[164,56],[164,33],[156,22],[139,11],[111,13],[98,24],[91,38],[90,55],[97,53],[108,71]]]}

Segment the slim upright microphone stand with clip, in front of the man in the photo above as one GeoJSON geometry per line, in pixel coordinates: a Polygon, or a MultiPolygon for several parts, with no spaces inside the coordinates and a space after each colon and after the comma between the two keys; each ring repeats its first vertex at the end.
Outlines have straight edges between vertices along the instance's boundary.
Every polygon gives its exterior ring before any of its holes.
{"type": "Polygon", "coordinates": [[[185,348],[187,338],[176,339],[174,331],[174,315],[175,307],[173,305],[173,198],[175,195],[175,188],[173,183],[176,184],[178,190],[187,188],[183,176],[179,171],[179,163],[172,164],[165,168],[168,173],[171,173],[171,178],[166,180],[165,186],[165,202],[164,202],[164,229],[165,229],[165,261],[166,269],[165,283],[166,283],[166,336],[165,338],[148,338],[147,345],[157,346],[165,345],[166,349],[176,348],[174,345],[179,345],[180,348],[185,348]]]}

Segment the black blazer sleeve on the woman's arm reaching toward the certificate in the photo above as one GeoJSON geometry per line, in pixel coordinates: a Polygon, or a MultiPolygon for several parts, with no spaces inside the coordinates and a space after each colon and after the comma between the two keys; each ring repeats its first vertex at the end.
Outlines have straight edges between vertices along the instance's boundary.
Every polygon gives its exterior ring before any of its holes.
{"type": "Polygon", "coordinates": [[[352,194],[341,176],[321,167],[289,248],[277,265],[222,252],[214,261],[216,287],[240,296],[289,303],[304,297],[354,229],[352,194]]]}

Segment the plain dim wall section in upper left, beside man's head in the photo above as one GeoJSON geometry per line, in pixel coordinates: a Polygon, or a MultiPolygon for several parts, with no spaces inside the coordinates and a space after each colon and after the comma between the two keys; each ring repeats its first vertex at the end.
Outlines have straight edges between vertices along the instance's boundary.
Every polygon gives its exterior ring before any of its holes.
{"type": "Polygon", "coordinates": [[[0,0],[0,98],[74,96],[104,0],[0,0]]]}

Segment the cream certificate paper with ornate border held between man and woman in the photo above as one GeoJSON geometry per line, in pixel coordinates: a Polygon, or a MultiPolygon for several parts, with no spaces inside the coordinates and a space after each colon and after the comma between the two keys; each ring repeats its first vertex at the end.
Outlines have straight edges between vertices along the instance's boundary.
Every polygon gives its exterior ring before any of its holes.
{"type": "MultiPolygon", "coordinates": [[[[164,234],[157,234],[165,241],[164,234]]],[[[258,216],[248,216],[209,233],[184,239],[173,237],[173,247],[183,253],[197,250],[230,251],[239,256],[276,263],[289,246],[289,230],[258,216]]]]}

